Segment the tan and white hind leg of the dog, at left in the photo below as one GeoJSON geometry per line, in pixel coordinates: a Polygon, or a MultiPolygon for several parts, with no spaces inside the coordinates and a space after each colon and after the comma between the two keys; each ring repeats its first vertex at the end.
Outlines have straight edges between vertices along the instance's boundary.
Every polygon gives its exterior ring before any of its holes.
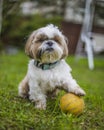
{"type": "Polygon", "coordinates": [[[28,97],[28,92],[29,92],[29,85],[28,85],[28,77],[26,75],[19,84],[18,94],[20,97],[26,98],[28,97]]]}

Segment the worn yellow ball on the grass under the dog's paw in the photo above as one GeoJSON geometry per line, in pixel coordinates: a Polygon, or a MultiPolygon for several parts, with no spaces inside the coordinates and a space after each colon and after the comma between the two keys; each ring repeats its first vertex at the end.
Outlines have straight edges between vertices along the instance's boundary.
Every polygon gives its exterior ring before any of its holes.
{"type": "Polygon", "coordinates": [[[60,99],[60,108],[65,113],[80,115],[84,107],[84,100],[75,94],[67,93],[60,99]]]}

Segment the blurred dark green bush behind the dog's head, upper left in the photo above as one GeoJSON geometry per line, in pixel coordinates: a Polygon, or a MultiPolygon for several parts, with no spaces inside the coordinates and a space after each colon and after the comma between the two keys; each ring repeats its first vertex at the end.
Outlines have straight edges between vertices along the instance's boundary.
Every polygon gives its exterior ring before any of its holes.
{"type": "Polygon", "coordinates": [[[32,31],[50,23],[59,26],[61,20],[60,16],[45,18],[41,15],[23,17],[21,15],[10,14],[3,21],[2,42],[5,45],[23,47],[25,40],[32,31]]]}

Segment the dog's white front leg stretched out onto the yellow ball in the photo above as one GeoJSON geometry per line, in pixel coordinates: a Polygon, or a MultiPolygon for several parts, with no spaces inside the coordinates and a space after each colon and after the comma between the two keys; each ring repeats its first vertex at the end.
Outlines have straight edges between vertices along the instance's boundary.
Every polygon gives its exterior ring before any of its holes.
{"type": "Polygon", "coordinates": [[[77,82],[70,78],[68,80],[64,80],[62,84],[62,89],[64,89],[67,92],[75,93],[76,95],[84,96],[85,92],[80,86],[77,84],[77,82]]]}

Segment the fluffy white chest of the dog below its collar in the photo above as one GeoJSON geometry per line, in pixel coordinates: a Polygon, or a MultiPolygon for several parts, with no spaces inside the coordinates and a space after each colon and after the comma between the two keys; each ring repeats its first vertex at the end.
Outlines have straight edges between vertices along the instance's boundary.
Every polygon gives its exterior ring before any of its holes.
{"type": "Polygon", "coordinates": [[[38,85],[43,91],[51,91],[57,86],[61,86],[62,82],[69,75],[69,67],[65,63],[60,63],[57,67],[50,70],[41,70],[34,66],[31,61],[29,64],[29,75],[32,84],[38,85]]]}

